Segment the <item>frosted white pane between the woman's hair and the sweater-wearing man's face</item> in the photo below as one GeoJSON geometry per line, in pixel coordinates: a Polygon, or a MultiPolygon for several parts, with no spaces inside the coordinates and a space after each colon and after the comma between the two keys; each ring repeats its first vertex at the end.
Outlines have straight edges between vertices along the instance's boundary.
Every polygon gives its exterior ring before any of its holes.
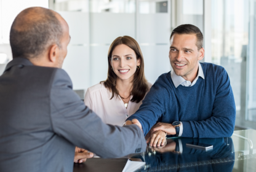
{"type": "Polygon", "coordinates": [[[145,61],[145,76],[152,84],[169,72],[170,14],[139,14],[138,41],[145,61]]]}

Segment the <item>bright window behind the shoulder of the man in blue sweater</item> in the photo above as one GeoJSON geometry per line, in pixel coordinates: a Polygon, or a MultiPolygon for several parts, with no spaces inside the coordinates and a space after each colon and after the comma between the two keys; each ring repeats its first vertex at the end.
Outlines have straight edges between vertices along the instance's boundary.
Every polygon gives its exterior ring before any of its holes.
{"type": "Polygon", "coordinates": [[[255,7],[255,0],[212,1],[212,63],[228,72],[236,124],[244,127],[256,122],[255,7]]]}

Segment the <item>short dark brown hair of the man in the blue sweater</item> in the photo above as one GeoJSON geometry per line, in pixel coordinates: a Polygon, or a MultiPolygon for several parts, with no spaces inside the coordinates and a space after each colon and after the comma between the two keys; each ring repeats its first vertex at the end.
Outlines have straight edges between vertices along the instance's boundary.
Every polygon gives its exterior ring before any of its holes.
{"type": "Polygon", "coordinates": [[[198,50],[202,49],[204,36],[198,27],[190,24],[180,25],[172,31],[172,34],[170,34],[170,39],[172,39],[174,34],[196,34],[196,46],[198,47],[198,50]]]}

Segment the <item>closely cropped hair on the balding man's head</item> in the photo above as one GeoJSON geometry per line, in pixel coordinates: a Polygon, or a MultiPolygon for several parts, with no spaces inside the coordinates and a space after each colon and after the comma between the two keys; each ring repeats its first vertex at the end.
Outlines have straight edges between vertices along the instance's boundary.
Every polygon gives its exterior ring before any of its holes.
{"type": "Polygon", "coordinates": [[[60,18],[57,12],[42,7],[31,7],[20,12],[10,29],[13,57],[38,57],[53,44],[61,49],[63,28],[60,18]]]}

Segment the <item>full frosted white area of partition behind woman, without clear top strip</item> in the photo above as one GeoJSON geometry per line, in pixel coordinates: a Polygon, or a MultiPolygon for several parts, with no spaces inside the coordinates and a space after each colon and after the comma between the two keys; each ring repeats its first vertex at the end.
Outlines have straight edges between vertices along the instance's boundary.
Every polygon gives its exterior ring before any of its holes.
{"type": "Polygon", "coordinates": [[[170,71],[168,57],[170,11],[146,14],[134,12],[60,12],[60,14],[70,25],[71,43],[68,46],[63,69],[70,75],[74,90],[86,90],[106,79],[110,44],[116,37],[124,35],[134,37],[140,44],[145,60],[145,76],[149,82],[154,83],[162,73],[170,71]]]}

